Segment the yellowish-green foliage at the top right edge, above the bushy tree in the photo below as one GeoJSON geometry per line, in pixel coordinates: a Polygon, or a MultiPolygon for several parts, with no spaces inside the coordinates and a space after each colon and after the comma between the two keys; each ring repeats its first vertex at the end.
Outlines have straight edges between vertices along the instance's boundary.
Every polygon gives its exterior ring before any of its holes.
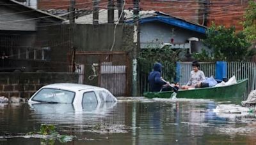
{"type": "Polygon", "coordinates": [[[244,13],[244,34],[246,39],[251,42],[256,41],[256,2],[249,1],[248,7],[244,13]]]}

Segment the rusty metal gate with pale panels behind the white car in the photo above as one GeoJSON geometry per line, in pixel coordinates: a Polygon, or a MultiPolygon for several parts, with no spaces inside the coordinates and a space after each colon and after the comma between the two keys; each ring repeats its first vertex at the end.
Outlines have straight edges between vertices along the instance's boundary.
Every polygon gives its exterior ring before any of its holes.
{"type": "MultiPolygon", "coordinates": [[[[68,62],[71,56],[68,53],[68,62]]],[[[76,64],[79,83],[106,88],[115,96],[131,95],[131,64],[127,52],[77,51],[76,64]]]]}

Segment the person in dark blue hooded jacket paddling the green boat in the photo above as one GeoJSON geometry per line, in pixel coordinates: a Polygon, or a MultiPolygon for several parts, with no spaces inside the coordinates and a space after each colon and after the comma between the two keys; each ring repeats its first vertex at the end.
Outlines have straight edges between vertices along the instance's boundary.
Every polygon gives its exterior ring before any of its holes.
{"type": "Polygon", "coordinates": [[[163,91],[168,91],[173,89],[174,92],[177,92],[179,89],[179,86],[175,86],[175,85],[171,86],[168,81],[167,82],[164,81],[163,78],[161,77],[161,72],[162,72],[162,65],[159,62],[157,62],[156,64],[154,64],[154,70],[150,72],[148,76],[150,92],[159,92],[161,89],[163,89],[163,91]]]}

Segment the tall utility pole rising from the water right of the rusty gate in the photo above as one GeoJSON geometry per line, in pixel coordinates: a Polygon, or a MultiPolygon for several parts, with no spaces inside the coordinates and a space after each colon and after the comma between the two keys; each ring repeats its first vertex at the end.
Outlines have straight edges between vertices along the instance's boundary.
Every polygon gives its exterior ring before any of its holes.
{"type": "Polygon", "coordinates": [[[132,58],[132,96],[138,95],[137,52],[140,50],[140,25],[139,25],[139,0],[133,0],[134,34],[133,34],[133,58],[132,58]]]}

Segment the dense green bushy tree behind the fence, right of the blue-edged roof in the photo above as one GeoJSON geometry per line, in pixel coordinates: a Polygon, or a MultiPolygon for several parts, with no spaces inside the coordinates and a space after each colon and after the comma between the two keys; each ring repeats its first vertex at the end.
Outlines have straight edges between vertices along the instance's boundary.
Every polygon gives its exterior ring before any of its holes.
{"type": "Polygon", "coordinates": [[[212,50],[212,56],[202,52],[200,55],[193,55],[195,59],[211,57],[211,60],[243,61],[253,55],[252,50],[248,50],[250,43],[246,40],[246,35],[243,31],[236,32],[235,27],[226,28],[223,25],[213,24],[207,30],[207,38],[203,43],[212,50]],[[202,55],[208,56],[202,57],[202,55]]]}

